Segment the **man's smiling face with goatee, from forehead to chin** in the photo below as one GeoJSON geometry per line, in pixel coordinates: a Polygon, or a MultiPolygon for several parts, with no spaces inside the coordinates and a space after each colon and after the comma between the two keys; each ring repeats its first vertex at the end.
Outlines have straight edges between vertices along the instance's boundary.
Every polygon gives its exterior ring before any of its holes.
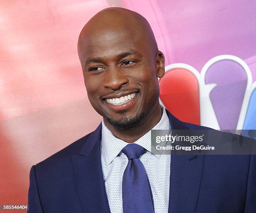
{"type": "Polygon", "coordinates": [[[87,35],[79,48],[90,103],[116,127],[134,127],[159,98],[157,77],[164,75],[159,69],[163,61],[143,39],[124,29],[105,30],[87,35]]]}

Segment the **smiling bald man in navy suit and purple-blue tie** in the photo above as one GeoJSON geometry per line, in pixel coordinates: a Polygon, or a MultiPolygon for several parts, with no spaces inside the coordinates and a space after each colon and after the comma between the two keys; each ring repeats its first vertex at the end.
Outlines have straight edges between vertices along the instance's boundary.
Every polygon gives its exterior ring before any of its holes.
{"type": "Polygon", "coordinates": [[[254,155],[151,153],[151,129],[207,128],[161,108],[164,55],[145,18],[102,10],[82,29],[78,54],[103,120],[31,168],[28,212],[256,212],[254,155]]]}

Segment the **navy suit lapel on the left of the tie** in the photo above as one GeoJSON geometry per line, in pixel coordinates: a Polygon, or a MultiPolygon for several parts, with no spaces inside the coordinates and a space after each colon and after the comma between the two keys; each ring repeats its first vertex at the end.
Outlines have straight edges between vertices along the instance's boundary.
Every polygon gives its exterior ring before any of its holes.
{"type": "Polygon", "coordinates": [[[72,156],[77,193],[84,212],[110,213],[100,159],[101,124],[72,156]]]}

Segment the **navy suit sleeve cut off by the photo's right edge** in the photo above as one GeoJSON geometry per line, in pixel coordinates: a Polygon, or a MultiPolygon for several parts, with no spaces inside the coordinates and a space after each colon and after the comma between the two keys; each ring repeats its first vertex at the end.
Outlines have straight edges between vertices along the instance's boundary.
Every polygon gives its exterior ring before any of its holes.
{"type": "Polygon", "coordinates": [[[256,155],[251,155],[244,213],[256,212],[256,155]]]}

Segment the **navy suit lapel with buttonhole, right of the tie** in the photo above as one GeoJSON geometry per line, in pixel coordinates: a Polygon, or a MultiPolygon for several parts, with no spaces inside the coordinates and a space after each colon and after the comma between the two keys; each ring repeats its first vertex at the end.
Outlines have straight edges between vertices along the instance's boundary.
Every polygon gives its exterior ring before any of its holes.
{"type": "MultiPolygon", "coordinates": [[[[172,129],[189,129],[166,110],[172,129]]],[[[205,155],[171,155],[169,213],[194,213],[205,155]]]]}

